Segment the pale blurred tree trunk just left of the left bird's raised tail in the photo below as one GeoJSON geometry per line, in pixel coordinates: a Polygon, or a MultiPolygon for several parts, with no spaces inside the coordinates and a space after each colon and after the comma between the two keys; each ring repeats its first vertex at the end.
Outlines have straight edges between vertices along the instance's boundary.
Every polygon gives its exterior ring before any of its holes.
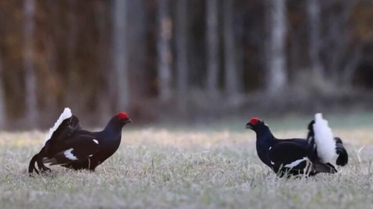
{"type": "Polygon", "coordinates": [[[37,94],[36,94],[36,69],[34,63],[34,32],[35,32],[35,9],[34,0],[25,0],[24,11],[24,59],[23,67],[25,72],[26,88],[26,115],[30,127],[37,124],[37,94]]]}

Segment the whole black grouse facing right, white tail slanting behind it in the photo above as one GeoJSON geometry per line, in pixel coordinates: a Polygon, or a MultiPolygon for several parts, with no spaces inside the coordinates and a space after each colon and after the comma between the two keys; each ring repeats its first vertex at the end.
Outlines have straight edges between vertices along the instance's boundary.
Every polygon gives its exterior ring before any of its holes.
{"type": "Polygon", "coordinates": [[[128,123],[132,120],[127,113],[121,112],[113,116],[102,131],[92,132],[82,129],[79,119],[72,115],[70,108],[65,108],[45,136],[40,152],[31,159],[29,174],[50,171],[45,164],[94,171],[117,151],[122,128],[128,123]]]}

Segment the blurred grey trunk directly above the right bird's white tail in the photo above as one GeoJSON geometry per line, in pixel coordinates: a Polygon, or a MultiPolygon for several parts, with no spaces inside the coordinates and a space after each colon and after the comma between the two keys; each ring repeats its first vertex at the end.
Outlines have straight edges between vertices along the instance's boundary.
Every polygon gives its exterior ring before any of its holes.
{"type": "Polygon", "coordinates": [[[315,78],[320,79],[324,74],[324,67],[320,61],[321,21],[320,0],[306,0],[309,21],[309,57],[311,72],[315,78]]]}

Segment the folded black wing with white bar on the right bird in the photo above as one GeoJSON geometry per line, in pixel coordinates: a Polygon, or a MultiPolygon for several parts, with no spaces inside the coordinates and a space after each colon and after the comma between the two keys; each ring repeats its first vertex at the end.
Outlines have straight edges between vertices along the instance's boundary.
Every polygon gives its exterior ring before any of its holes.
{"type": "Polygon", "coordinates": [[[268,160],[272,167],[302,170],[310,162],[307,147],[294,142],[279,142],[268,151],[268,160]]]}

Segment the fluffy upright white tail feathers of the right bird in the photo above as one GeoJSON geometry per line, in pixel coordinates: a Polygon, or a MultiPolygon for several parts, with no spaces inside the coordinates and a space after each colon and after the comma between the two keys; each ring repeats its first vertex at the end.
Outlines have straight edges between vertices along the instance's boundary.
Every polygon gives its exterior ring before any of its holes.
{"type": "Polygon", "coordinates": [[[315,114],[313,129],[315,132],[317,155],[321,162],[332,162],[337,156],[336,142],[334,141],[332,129],[328,126],[328,121],[322,118],[321,113],[315,114]]]}

